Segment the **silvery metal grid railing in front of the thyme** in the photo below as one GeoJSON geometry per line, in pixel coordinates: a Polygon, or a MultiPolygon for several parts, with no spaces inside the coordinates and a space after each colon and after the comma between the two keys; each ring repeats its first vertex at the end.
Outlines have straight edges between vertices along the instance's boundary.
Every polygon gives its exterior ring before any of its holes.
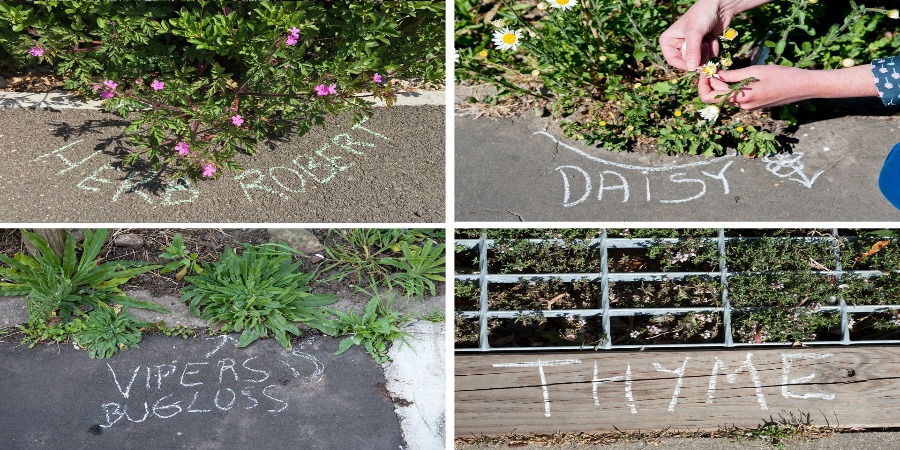
{"type": "MultiPolygon", "coordinates": [[[[718,230],[718,237],[694,238],[705,242],[716,242],[719,255],[719,270],[713,272],[628,272],[628,273],[612,273],[608,261],[610,249],[639,249],[647,248],[654,243],[660,242],[677,242],[680,238],[608,238],[606,230],[601,230],[600,237],[597,239],[583,240],[583,242],[596,249],[600,258],[600,272],[598,273],[542,273],[542,274],[493,274],[488,270],[488,249],[492,248],[496,240],[488,239],[487,233],[482,232],[479,239],[458,239],[455,241],[457,246],[468,249],[477,248],[479,251],[478,274],[457,274],[455,280],[459,282],[477,282],[480,287],[479,308],[478,311],[456,311],[458,316],[467,319],[478,319],[478,346],[475,348],[456,348],[457,352],[487,352],[487,351],[562,351],[562,350],[611,350],[611,349],[660,349],[660,348],[733,348],[733,347],[750,347],[750,346],[784,346],[786,344],[797,344],[796,342],[764,342],[764,343],[743,343],[735,342],[732,332],[732,314],[735,308],[731,306],[728,295],[728,281],[738,273],[729,271],[728,261],[726,260],[726,243],[730,241],[741,241],[758,238],[748,237],[726,237],[725,229],[718,230]],[[660,281],[660,280],[678,280],[688,277],[705,276],[717,277],[721,283],[721,296],[719,298],[720,306],[687,306],[674,308],[613,308],[610,305],[610,282],[629,282],[629,281],[660,281]],[[590,309],[533,309],[533,310],[491,310],[488,303],[488,293],[492,284],[512,284],[526,280],[550,280],[557,279],[562,282],[574,282],[587,280],[592,283],[599,282],[602,292],[600,308],[590,309]],[[626,344],[614,345],[612,343],[610,319],[612,317],[629,317],[629,316],[657,316],[657,315],[683,315],[687,313],[721,313],[723,318],[723,342],[703,342],[703,343],[670,343],[670,344],[626,344]],[[571,315],[581,316],[583,318],[600,317],[601,330],[604,334],[602,344],[597,347],[584,345],[564,345],[564,346],[536,346],[536,347],[492,347],[488,342],[488,320],[496,319],[513,319],[521,317],[523,314],[536,314],[545,318],[550,317],[566,317],[571,315]]],[[[838,282],[842,277],[847,275],[857,275],[865,278],[881,276],[883,272],[879,270],[843,270],[841,267],[841,250],[838,245],[838,230],[833,229],[831,236],[822,237],[782,237],[776,239],[792,239],[805,240],[808,242],[831,241],[834,249],[834,270],[820,270],[813,273],[823,276],[834,276],[838,282]]],[[[531,244],[551,243],[565,246],[572,240],[566,239],[521,239],[527,240],[531,244]]],[[[900,310],[900,304],[890,305],[848,305],[843,297],[838,296],[834,305],[821,306],[817,313],[838,313],[840,315],[841,339],[840,340],[817,340],[803,341],[802,345],[852,345],[852,344],[897,344],[900,340],[884,339],[884,340],[851,340],[850,338],[850,315],[856,313],[875,313],[884,311],[900,310]]]]}

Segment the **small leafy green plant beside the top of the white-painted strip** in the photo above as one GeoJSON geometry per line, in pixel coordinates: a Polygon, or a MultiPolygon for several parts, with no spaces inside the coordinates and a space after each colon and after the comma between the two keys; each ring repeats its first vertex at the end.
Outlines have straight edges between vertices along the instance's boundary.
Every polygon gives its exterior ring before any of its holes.
{"type": "Polygon", "coordinates": [[[387,352],[392,342],[399,339],[409,345],[406,341],[409,334],[400,329],[406,319],[391,310],[389,300],[383,301],[377,295],[372,297],[361,316],[352,311],[332,312],[337,318],[328,321],[323,331],[332,336],[347,335],[339,344],[335,355],[350,350],[354,345],[362,345],[375,362],[384,364],[391,361],[387,352]]]}

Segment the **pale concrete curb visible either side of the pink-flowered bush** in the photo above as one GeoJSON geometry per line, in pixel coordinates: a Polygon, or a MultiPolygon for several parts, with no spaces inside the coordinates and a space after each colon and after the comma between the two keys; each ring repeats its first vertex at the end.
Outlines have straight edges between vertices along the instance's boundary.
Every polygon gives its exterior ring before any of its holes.
{"type": "MultiPolygon", "coordinates": [[[[365,93],[361,95],[366,95],[365,93]]],[[[444,105],[447,91],[401,92],[396,106],[444,105]]],[[[382,100],[367,100],[375,107],[385,106],[382,100]]],[[[98,100],[80,101],[69,94],[55,92],[0,92],[0,107],[4,108],[53,108],[53,109],[103,109],[98,100]]]]}

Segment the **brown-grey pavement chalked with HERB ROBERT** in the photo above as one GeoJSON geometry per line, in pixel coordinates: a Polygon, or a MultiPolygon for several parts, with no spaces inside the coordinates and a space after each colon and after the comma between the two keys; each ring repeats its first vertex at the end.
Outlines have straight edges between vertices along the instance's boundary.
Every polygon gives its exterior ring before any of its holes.
{"type": "Polygon", "coordinates": [[[0,222],[440,223],[444,106],[326,120],[196,185],[119,169],[128,122],[90,110],[0,108],[0,222]],[[359,125],[359,126],[356,126],[359,125]]]}

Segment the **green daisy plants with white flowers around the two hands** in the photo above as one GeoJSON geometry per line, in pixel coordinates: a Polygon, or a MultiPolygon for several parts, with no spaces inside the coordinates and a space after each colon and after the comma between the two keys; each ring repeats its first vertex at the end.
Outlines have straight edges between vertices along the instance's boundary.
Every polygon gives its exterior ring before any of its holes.
{"type": "MultiPolygon", "coordinates": [[[[700,71],[751,64],[838,68],[900,51],[892,0],[775,0],[739,15],[719,37],[720,54],[694,73],[666,64],[657,38],[695,0],[456,0],[456,74],[497,87],[536,113],[563,118],[566,135],[608,150],[743,155],[780,150],[798,107],[771,114],[706,105],[700,71]]],[[[736,92],[754,81],[731,86],[736,92]]]]}

